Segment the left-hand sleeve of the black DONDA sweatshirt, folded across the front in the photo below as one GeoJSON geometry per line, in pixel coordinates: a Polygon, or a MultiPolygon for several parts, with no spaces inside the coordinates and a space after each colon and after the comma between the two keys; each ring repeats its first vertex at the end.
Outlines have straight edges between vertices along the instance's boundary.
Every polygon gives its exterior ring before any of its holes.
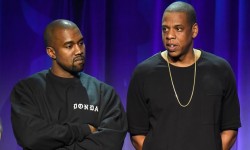
{"type": "Polygon", "coordinates": [[[49,123],[38,109],[37,97],[45,96],[33,90],[27,82],[19,82],[11,93],[11,121],[16,140],[26,149],[55,150],[90,134],[88,125],[49,123]],[[81,133],[81,134],[80,134],[81,133]],[[82,134],[83,133],[83,134],[82,134]]]}

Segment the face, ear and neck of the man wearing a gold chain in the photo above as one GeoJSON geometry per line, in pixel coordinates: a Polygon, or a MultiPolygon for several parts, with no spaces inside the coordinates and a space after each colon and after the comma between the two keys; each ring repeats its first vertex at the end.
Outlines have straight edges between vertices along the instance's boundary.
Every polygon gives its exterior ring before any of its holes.
{"type": "Polygon", "coordinates": [[[191,25],[184,12],[165,12],[162,19],[162,41],[171,64],[186,67],[194,63],[193,39],[197,23],[191,25]]]}

